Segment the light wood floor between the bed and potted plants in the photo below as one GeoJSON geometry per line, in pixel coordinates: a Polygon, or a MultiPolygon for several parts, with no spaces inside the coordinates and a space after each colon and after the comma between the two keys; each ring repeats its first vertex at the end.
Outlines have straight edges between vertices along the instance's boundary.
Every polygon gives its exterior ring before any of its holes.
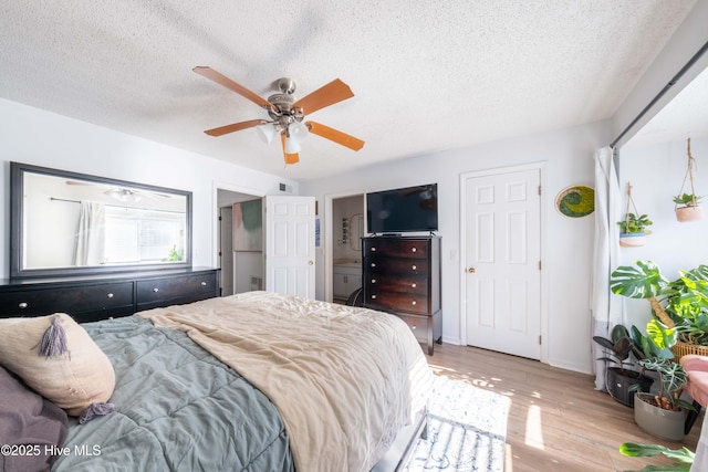
{"type": "Polygon", "coordinates": [[[504,472],[624,471],[671,463],[664,457],[624,457],[623,442],[696,450],[702,413],[683,443],[654,438],[635,424],[634,410],[596,391],[589,375],[447,344],[435,345],[428,364],[437,375],[511,399],[504,472]]]}

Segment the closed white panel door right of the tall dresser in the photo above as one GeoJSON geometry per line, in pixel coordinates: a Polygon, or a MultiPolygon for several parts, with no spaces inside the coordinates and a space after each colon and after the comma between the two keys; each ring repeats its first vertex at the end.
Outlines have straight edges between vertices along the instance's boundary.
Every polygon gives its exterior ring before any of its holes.
{"type": "Polygon", "coordinates": [[[467,344],[541,358],[539,169],[465,180],[467,344]]]}

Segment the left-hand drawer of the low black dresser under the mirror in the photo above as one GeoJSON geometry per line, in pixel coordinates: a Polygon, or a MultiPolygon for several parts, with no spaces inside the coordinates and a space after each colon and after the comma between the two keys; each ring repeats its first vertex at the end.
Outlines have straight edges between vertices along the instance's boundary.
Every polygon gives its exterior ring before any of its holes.
{"type": "Polygon", "coordinates": [[[111,283],[51,290],[21,290],[2,294],[2,316],[41,316],[84,312],[124,314],[133,308],[133,283],[111,283]],[[124,310],[125,308],[125,310],[124,310]]]}

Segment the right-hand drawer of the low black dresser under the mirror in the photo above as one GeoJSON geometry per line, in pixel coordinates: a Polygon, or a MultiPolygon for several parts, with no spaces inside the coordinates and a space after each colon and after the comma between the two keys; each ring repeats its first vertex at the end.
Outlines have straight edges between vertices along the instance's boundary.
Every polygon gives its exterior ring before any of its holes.
{"type": "Polygon", "coordinates": [[[216,273],[190,274],[165,279],[137,281],[137,303],[139,308],[145,304],[165,301],[188,303],[216,296],[216,273]]]}

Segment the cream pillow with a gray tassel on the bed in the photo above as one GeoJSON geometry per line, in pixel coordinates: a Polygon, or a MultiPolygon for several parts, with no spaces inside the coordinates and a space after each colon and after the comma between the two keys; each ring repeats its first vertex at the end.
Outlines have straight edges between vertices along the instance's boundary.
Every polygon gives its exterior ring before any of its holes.
{"type": "Polygon", "coordinates": [[[115,387],[111,360],[64,313],[0,319],[0,365],[74,417],[107,401],[115,387]]]}

